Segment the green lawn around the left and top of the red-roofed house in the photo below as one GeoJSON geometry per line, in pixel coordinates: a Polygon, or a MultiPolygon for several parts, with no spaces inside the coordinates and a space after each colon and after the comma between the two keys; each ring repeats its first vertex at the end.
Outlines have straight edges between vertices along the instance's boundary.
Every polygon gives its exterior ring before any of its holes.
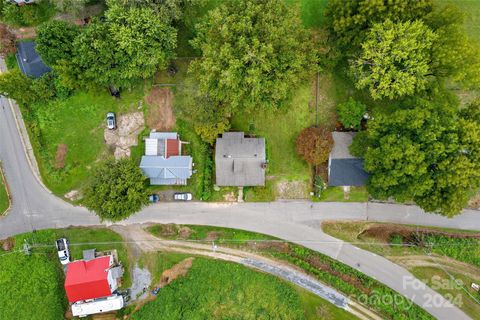
{"type": "Polygon", "coordinates": [[[64,318],[67,307],[64,274],[54,248],[55,239],[63,236],[70,240],[71,252],[76,259],[81,258],[83,249],[117,249],[120,260],[126,265],[124,286],[130,285],[127,253],[122,244],[82,245],[85,242],[120,241],[121,238],[110,230],[69,228],[20,234],[13,238],[12,251],[0,250],[0,319],[64,318]],[[30,255],[22,251],[24,240],[32,246],[30,255]]]}

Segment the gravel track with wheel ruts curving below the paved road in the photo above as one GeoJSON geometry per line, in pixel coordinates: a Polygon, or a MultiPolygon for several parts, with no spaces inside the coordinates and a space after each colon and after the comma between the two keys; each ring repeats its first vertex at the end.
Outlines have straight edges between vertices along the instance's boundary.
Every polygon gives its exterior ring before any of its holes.
{"type": "Polygon", "coordinates": [[[138,250],[142,252],[179,252],[239,263],[300,286],[328,302],[335,304],[337,307],[355,314],[360,319],[380,319],[367,308],[350,301],[350,299],[335,289],[326,286],[287,263],[267,259],[251,252],[218,247],[213,244],[210,246],[188,241],[160,239],[145,231],[144,227],[146,227],[146,225],[137,224],[129,226],[114,225],[111,228],[119,233],[136,252],[138,252],[138,250]]]}

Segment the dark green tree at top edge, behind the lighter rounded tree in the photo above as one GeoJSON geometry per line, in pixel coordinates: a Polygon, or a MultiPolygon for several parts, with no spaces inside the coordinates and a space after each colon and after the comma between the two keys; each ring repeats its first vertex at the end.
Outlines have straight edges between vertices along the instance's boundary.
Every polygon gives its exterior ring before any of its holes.
{"type": "Polygon", "coordinates": [[[374,24],[421,19],[432,7],[432,0],[329,0],[325,16],[337,43],[356,51],[374,24]]]}

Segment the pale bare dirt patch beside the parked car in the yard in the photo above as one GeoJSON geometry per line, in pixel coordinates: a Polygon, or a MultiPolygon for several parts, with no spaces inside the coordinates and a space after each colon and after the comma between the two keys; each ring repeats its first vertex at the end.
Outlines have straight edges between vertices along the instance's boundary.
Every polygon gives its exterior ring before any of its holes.
{"type": "Polygon", "coordinates": [[[145,127],[142,112],[122,114],[117,118],[117,129],[105,128],[105,143],[114,149],[115,159],[130,157],[130,147],[138,144],[138,135],[145,127]]]}

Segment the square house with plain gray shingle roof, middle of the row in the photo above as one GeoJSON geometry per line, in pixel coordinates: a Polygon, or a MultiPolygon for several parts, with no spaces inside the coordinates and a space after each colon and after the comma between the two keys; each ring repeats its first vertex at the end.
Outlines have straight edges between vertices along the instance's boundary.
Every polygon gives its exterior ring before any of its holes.
{"type": "Polygon", "coordinates": [[[246,138],[243,132],[225,132],[215,145],[218,186],[264,186],[267,160],[264,138],[246,138]]]}

